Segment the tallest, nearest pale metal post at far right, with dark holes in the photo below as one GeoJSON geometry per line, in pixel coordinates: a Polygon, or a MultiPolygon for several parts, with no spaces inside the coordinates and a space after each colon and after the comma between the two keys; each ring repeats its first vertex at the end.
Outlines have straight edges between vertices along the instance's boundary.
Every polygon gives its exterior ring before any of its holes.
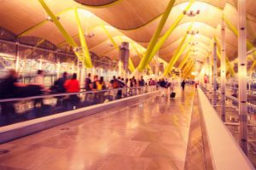
{"type": "Polygon", "coordinates": [[[239,77],[239,121],[240,145],[247,155],[247,19],[246,0],[238,0],[238,77],[239,77]]]}

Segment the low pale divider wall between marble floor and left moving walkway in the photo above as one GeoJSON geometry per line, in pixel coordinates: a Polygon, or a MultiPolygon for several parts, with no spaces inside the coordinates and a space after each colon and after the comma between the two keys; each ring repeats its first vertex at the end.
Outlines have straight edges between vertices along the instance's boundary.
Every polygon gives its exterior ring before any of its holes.
{"type": "Polygon", "coordinates": [[[134,105],[137,102],[158,95],[159,91],[141,94],[125,99],[118,99],[108,103],[91,105],[78,110],[66,111],[52,116],[45,116],[31,121],[15,123],[6,127],[0,127],[0,144],[24,137],[32,133],[38,133],[50,127],[55,127],[66,122],[72,122],[84,116],[90,116],[101,111],[106,111],[116,106],[134,105]]]}

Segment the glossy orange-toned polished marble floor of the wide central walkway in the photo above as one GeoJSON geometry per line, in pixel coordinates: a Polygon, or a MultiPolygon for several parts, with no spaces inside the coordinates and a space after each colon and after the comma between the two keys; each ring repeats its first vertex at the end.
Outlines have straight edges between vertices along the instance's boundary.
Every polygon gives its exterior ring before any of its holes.
{"type": "Polygon", "coordinates": [[[1,144],[1,170],[183,169],[194,89],[157,96],[1,144]]]}

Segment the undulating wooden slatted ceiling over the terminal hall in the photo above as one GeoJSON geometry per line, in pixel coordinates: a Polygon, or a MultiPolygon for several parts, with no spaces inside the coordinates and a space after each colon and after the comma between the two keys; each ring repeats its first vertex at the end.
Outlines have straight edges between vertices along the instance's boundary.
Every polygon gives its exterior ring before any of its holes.
{"type": "MultiPolygon", "coordinates": [[[[106,26],[113,39],[119,44],[121,41],[134,42],[137,50],[142,52],[147,48],[150,38],[156,30],[161,14],[164,13],[169,0],[45,0],[54,14],[61,17],[61,24],[67,32],[79,43],[78,28],[74,19],[73,8],[79,8],[79,16],[82,19],[84,31],[94,33],[94,37],[86,37],[90,51],[99,56],[108,55],[112,59],[118,56],[118,50],[109,46],[110,40],[102,30],[106,26]],[[90,11],[90,12],[89,12],[90,11]]],[[[172,12],[166,21],[162,31],[172,26],[183,8],[188,5],[188,0],[176,0],[172,12]]],[[[188,27],[195,22],[193,29],[198,30],[200,35],[195,36],[193,41],[200,42],[197,48],[201,51],[201,58],[207,57],[207,51],[211,47],[212,37],[220,39],[220,24],[222,15],[237,26],[238,14],[236,0],[198,0],[191,9],[201,10],[201,14],[191,18],[184,16],[171,36],[160,48],[160,57],[167,62],[179,42],[186,34],[188,27]],[[207,48],[207,49],[206,49],[207,48]]],[[[247,39],[255,43],[256,37],[256,1],[247,0],[247,39]]],[[[30,30],[33,26],[45,22],[47,14],[38,0],[2,0],[0,5],[0,26],[20,35],[30,30]]],[[[228,28],[228,27],[227,27],[228,28]]],[[[55,27],[54,23],[47,21],[44,25],[28,31],[26,35],[41,37],[60,48],[68,47],[65,38],[55,27]]],[[[230,59],[235,59],[237,54],[237,38],[232,31],[226,33],[227,54],[230,59]]],[[[131,58],[138,64],[139,59],[135,48],[131,48],[131,58]]],[[[186,53],[184,51],[183,55],[186,53]]],[[[183,56],[182,56],[183,57],[183,56]]],[[[182,59],[181,57],[181,59],[182,59]]],[[[180,61],[180,59],[179,59],[180,61]]],[[[178,63],[178,62],[177,62],[178,63]]]]}

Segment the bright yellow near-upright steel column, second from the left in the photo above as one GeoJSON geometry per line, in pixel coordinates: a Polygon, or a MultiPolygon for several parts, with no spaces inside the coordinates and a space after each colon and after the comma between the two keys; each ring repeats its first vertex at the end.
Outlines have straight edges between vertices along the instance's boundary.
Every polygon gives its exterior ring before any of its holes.
{"type": "Polygon", "coordinates": [[[74,9],[74,13],[75,13],[75,18],[77,20],[77,25],[78,25],[78,28],[79,28],[80,43],[81,43],[81,46],[83,48],[83,50],[82,50],[82,52],[83,52],[83,64],[87,68],[92,68],[89,49],[88,49],[88,46],[87,46],[87,43],[86,43],[86,40],[85,40],[85,37],[84,37],[84,31],[82,29],[81,22],[79,20],[78,8],[74,9]]]}

